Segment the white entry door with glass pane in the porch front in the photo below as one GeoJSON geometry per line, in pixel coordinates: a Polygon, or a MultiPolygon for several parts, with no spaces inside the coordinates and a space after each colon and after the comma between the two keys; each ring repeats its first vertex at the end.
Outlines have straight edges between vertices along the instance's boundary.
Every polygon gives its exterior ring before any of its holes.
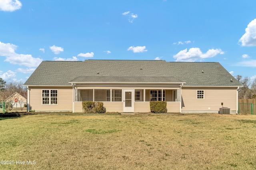
{"type": "Polygon", "coordinates": [[[134,112],[133,89],[124,89],[124,112],[134,112]]]}

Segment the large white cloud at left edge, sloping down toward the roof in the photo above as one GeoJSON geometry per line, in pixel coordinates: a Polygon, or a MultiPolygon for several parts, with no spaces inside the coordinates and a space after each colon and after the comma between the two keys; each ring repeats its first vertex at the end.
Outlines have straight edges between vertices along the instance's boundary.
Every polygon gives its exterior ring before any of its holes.
{"type": "Polygon", "coordinates": [[[0,42],[0,56],[5,56],[4,61],[8,61],[11,64],[25,65],[27,67],[37,67],[43,60],[40,58],[34,58],[30,54],[17,54],[15,50],[17,45],[11,43],[0,42]]]}

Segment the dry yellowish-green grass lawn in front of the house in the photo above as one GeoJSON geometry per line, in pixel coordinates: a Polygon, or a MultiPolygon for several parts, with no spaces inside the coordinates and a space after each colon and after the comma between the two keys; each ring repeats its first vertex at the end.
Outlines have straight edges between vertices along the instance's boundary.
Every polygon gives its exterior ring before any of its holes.
{"type": "Polygon", "coordinates": [[[0,169],[256,169],[256,115],[28,115],[0,131],[0,169]]]}

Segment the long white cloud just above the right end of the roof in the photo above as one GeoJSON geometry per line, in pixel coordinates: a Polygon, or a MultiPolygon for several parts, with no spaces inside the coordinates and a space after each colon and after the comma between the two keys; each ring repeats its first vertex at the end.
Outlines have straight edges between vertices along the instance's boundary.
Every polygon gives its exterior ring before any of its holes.
{"type": "Polygon", "coordinates": [[[202,53],[200,48],[190,48],[189,50],[181,50],[173,57],[176,61],[194,62],[199,59],[214,57],[218,54],[224,54],[224,52],[221,49],[209,49],[206,53],[202,53]]]}

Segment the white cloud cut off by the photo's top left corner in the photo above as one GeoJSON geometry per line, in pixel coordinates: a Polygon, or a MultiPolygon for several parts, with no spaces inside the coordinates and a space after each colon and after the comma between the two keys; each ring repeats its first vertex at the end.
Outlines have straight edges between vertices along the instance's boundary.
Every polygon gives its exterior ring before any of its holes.
{"type": "Polygon", "coordinates": [[[19,0],[0,0],[1,11],[15,11],[22,7],[22,3],[19,0]]]}

